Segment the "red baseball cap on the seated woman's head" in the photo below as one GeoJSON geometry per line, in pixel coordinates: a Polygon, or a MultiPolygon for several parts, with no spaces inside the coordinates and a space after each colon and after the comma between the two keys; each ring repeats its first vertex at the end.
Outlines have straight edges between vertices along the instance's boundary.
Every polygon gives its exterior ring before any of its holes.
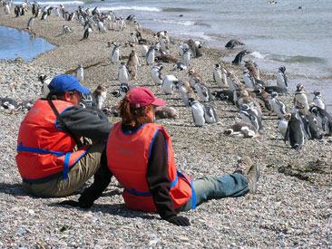
{"type": "Polygon", "coordinates": [[[146,87],[135,87],[127,92],[124,99],[130,101],[132,108],[140,108],[147,105],[163,106],[165,101],[154,97],[152,91],[146,87]]]}

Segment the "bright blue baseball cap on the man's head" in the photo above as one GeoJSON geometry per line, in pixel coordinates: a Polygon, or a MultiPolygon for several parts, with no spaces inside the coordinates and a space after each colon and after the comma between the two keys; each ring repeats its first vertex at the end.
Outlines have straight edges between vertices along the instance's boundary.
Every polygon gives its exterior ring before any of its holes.
{"type": "Polygon", "coordinates": [[[83,87],[80,82],[68,74],[60,74],[53,78],[50,82],[50,91],[51,92],[65,92],[65,91],[80,91],[84,94],[89,93],[90,90],[83,87]]]}

